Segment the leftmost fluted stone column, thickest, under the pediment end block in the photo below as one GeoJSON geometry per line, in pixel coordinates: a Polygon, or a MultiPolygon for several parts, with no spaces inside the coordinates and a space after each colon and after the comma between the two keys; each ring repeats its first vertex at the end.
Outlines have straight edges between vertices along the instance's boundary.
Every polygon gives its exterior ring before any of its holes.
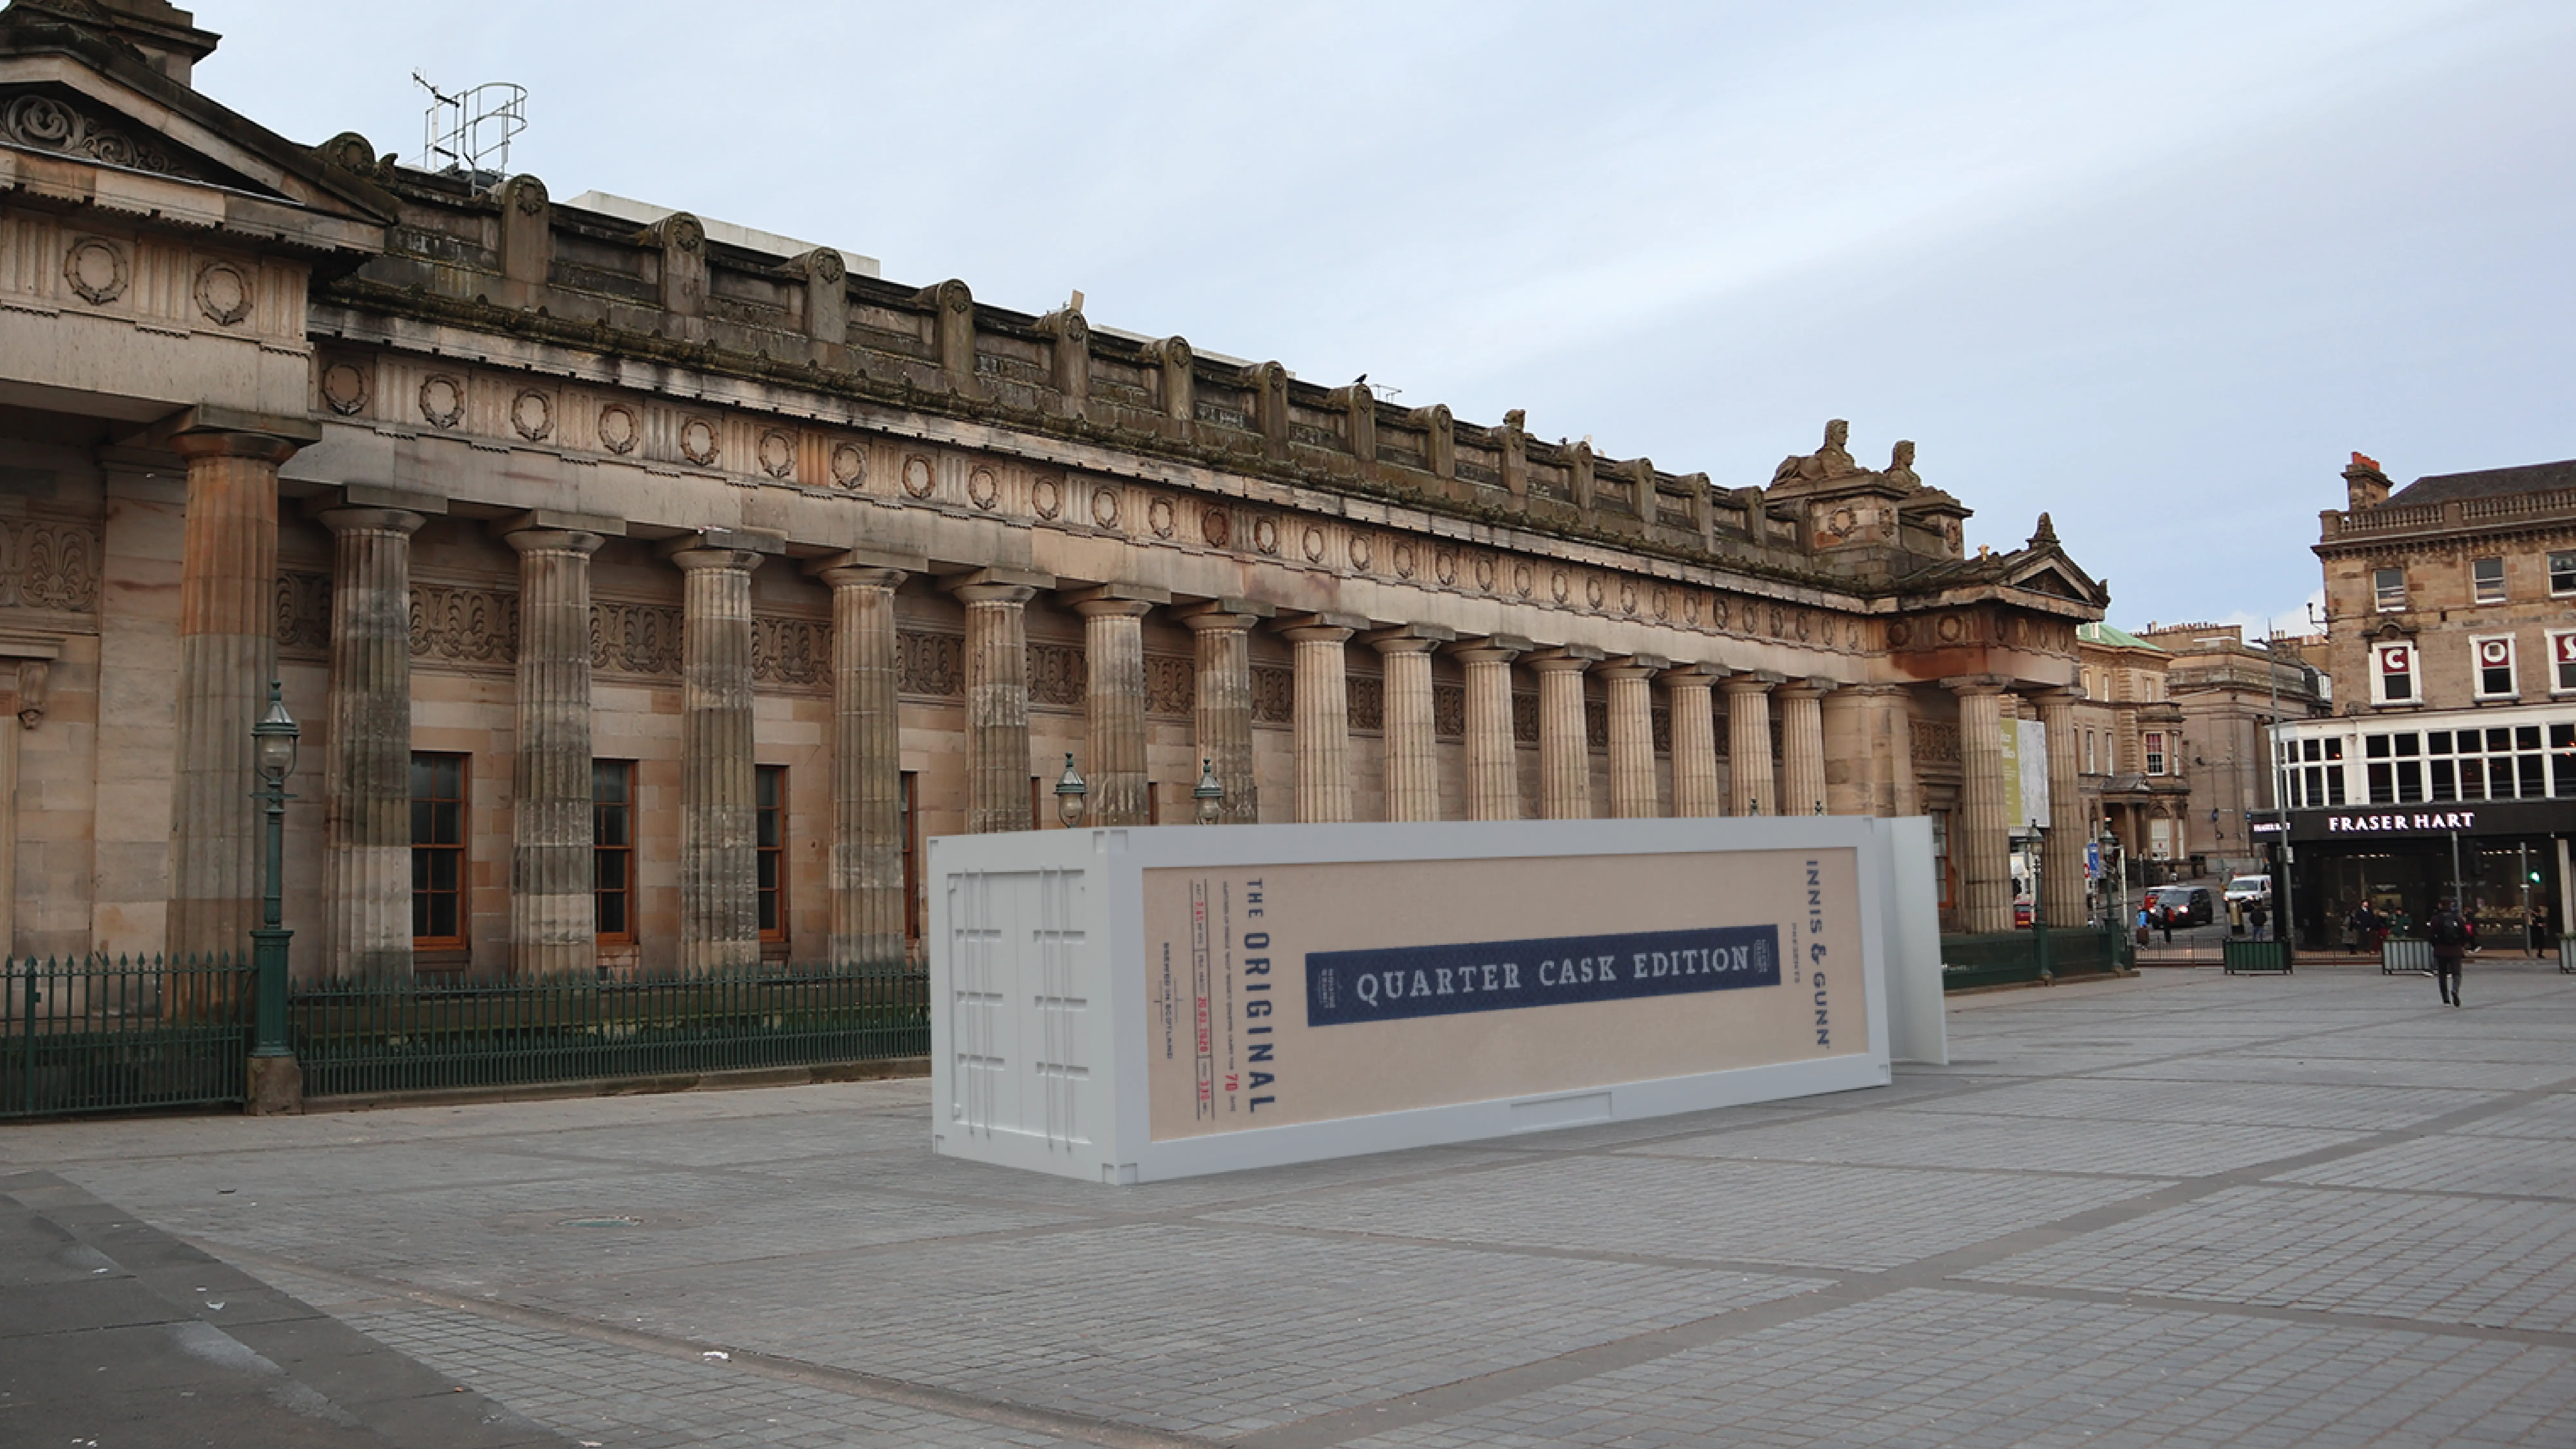
{"type": "Polygon", "coordinates": [[[178,579],[178,754],[170,777],[170,950],[250,950],[260,816],[250,726],[278,667],[278,463],[260,432],[183,432],[188,520],[178,579]]]}

